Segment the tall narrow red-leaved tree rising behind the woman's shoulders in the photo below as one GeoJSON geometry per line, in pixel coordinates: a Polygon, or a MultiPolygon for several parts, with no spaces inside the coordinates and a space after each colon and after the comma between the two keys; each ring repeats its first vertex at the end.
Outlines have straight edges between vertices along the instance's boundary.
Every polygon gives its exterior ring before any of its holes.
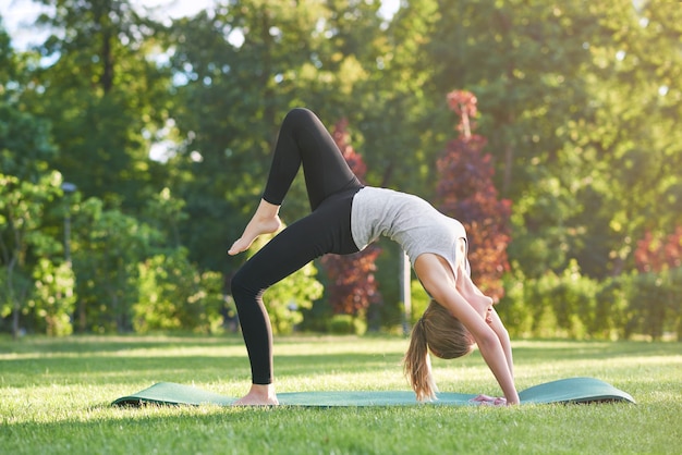
{"type": "Polygon", "coordinates": [[[483,152],[487,140],[473,134],[476,97],[471,91],[451,91],[448,104],[460,116],[460,134],[438,160],[439,208],[464,224],[472,275],[487,295],[500,298],[504,294],[501,276],[509,270],[511,201],[498,198],[491,157],[483,152]]]}

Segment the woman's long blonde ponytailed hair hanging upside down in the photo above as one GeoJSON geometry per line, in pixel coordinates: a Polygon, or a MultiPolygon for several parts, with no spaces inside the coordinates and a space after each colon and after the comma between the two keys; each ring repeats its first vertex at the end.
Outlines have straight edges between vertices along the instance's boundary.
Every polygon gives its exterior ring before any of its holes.
{"type": "Polygon", "coordinates": [[[436,300],[431,300],[412,329],[410,347],[403,359],[410,385],[419,402],[436,398],[438,388],[431,374],[429,349],[443,359],[465,356],[474,348],[474,340],[464,324],[436,300]]]}

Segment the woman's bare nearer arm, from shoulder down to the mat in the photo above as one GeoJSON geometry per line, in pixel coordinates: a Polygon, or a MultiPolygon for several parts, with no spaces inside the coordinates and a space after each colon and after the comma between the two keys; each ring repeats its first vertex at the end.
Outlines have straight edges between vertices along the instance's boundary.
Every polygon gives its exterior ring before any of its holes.
{"type": "Polygon", "coordinates": [[[437,255],[424,254],[416,259],[415,271],[431,297],[448,308],[471,332],[483,358],[500,384],[507,403],[517,404],[519,394],[503,342],[485,318],[456,290],[455,278],[446,260],[437,255]]]}

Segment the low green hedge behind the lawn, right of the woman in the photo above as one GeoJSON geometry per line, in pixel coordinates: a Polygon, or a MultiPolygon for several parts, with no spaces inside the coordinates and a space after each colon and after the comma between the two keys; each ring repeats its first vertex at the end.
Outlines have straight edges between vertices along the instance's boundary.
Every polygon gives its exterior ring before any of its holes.
{"type": "Polygon", "coordinates": [[[497,307],[515,336],[681,339],[682,268],[602,281],[581,273],[575,262],[561,275],[516,273],[506,276],[508,293],[497,307]]]}

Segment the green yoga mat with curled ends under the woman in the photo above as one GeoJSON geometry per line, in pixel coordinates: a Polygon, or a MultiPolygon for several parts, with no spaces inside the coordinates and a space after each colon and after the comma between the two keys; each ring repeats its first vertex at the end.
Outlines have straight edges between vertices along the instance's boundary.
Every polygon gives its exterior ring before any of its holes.
{"type": "MultiPolygon", "coordinates": [[[[418,405],[411,391],[355,391],[355,392],[285,392],[277,394],[280,405],[304,407],[338,406],[410,406],[418,405]]],[[[443,392],[427,406],[476,406],[471,402],[475,394],[443,392]]],[[[522,404],[528,403],[635,403],[630,394],[594,378],[569,378],[547,382],[519,393],[522,404]]],[[[190,385],[159,382],[112,403],[115,406],[157,405],[219,405],[229,406],[236,398],[219,395],[190,385]]]]}

